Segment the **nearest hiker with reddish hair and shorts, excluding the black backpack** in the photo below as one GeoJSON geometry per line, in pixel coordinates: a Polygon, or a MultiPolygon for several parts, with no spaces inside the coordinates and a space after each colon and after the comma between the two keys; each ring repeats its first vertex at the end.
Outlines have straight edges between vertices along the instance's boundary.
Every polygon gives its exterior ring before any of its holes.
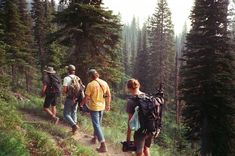
{"type": "MultiPolygon", "coordinates": [[[[127,82],[127,89],[131,96],[144,95],[145,93],[140,91],[140,83],[136,79],[130,79],[127,82]]],[[[126,111],[128,113],[128,130],[127,130],[127,142],[131,140],[131,129],[129,126],[129,121],[135,113],[135,107],[137,106],[134,98],[129,98],[127,101],[126,111]]],[[[134,143],[136,146],[136,156],[150,156],[149,148],[151,146],[153,134],[152,133],[142,133],[137,130],[134,133],[134,143]]]]}

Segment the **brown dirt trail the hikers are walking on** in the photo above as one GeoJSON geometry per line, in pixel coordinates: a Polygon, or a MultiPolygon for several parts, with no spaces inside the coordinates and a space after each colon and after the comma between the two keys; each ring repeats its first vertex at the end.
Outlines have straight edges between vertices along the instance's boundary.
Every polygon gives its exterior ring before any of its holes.
{"type": "MultiPolygon", "coordinates": [[[[40,116],[36,116],[34,114],[29,114],[28,112],[23,112],[24,118],[27,122],[37,122],[37,123],[45,123],[45,122],[49,122],[47,120],[45,120],[44,118],[40,117],[40,116]]],[[[68,126],[66,126],[63,122],[60,122],[58,125],[58,128],[65,128],[68,130],[68,133],[70,133],[70,128],[68,126]]],[[[56,139],[56,136],[53,136],[56,139]]],[[[73,138],[75,140],[77,140],[81,145],[84,146],[88,146],[91,147],[92,149],[96,149],[99,144],[96,145],[92,145],[90,144],[90,140],[92,138],[91,135],[86,134],[85,132],[78,130],[78,132],[73,136],[73,138]]],[[[58,144],[58,146],[60,146],[58,144]]],[[[112,143],[107,142],[107,146],[108,146],[108,152],[107,153],[99,153],[99,156],[133,156],[133,154],[131,153],[124,153],[121,151],[120,148],[115,147],[112,143]]],[[[67,151],[66,149],[63,149],[65,151],[65,153],[69,153],[69,151],[67,151]]],[[[65,155],[69,155],[69,154],[65,154],[65,155]]]]}

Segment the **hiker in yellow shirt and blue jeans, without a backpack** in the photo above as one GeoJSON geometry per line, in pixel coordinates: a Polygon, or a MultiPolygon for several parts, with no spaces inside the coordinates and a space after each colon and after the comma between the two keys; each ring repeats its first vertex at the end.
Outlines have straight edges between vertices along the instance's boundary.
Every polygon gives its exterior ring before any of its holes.
{"type": "Polygon", "coordinates": [[[91,139],[91,143],[95,144],[98,139],[100,147],[96,150],[101,153],[107,152],[101,123],[104,110],[110,110],[111,93],[107,82],[99,78],[99,73],[95,69],[90,69],[88,75],[91,82],[87,85],[85,98],[81,105],[86,104],[90,112],[94,129],[94,137],[91,139]]]}

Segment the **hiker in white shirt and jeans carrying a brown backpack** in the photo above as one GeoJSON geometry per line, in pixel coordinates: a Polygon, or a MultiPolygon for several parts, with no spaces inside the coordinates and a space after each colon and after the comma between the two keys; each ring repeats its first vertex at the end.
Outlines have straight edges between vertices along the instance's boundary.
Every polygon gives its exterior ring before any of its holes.
{"type": "Polygon", "coordinates": [[[66,94],[64,103],[64,118],[72,127],[72,132],[75,134],[78,129],[77,125],[77,108],[78,96],[82,92],[83,85],[81,79],[75,75],[75,66],[69,65],[66,67],[68,75],[64,78],[63,92],[66,94]]]}

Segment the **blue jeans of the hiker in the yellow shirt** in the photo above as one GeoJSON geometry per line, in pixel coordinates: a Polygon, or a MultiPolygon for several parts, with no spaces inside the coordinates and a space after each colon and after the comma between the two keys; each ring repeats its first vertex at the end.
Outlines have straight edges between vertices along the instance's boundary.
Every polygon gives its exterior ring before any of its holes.
{"type": "Polygon", "coordinates": [[[101,123],[103,118],[103,111],[90,111],[92,125],[94,128],[94,135],[98,138],[99,142],[104,142],[104,134],[101,129],[101,123]]]}

